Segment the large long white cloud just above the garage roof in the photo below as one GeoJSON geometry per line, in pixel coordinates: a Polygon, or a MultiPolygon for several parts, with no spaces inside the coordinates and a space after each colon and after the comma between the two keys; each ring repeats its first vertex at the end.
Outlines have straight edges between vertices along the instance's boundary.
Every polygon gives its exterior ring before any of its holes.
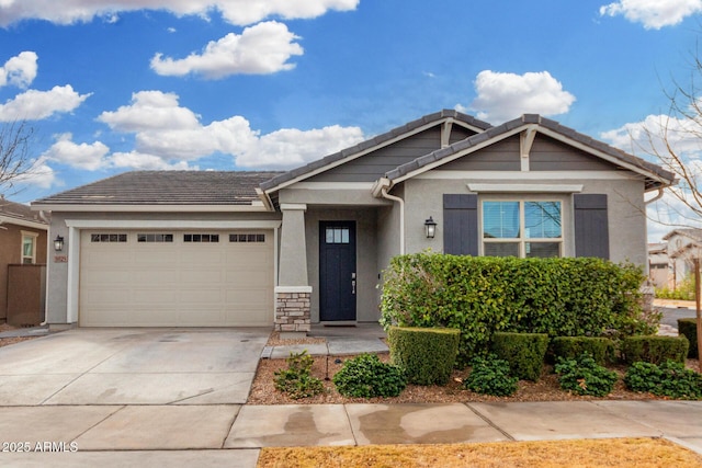
{"type": "Polygon", "coordinates": [[[268,135],[253,130],[242,116],[203,125],[178,95],[141,91],[129,105],[104,112],[99,121],[135,135],[135,148],[107,157],[107,163],[135,169],[183,168],[206,156],[231,156],[246,168],[287,169],[319,159],[363,140],[359,127],[285,128],[268,135]]]}

